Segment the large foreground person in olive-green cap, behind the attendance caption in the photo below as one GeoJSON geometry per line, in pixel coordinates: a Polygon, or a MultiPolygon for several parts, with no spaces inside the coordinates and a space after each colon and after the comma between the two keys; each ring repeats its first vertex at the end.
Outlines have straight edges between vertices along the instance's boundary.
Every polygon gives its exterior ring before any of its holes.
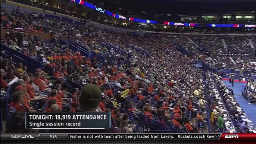
{"type": "MultiPolygon", "coordinates": [[[[79,97],[79,108],[75,112],[96,112],[102,99],[102,91],[97,85],[84,85],[79,97]]],[[[51,129],[51,133],[121,133],[120,129],[111,124],[109,129],[51,129]]]]}

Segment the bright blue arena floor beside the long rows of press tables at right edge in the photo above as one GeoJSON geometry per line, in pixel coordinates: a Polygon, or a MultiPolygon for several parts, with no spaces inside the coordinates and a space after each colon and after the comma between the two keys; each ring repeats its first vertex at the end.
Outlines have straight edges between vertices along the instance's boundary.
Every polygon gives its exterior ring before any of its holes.
{"type": "Polygon", "coordinates": [[[248,101],[241,96],[242,86],[245,86],[246,84],[235,82],[234,87],[231,87],[231,83],[228,83],[228,81],[223,82],[225,82],[227,87],[230,86],[230,88],[234,91],[235,100],[238,101],[241,108],[244,110],[244,113],[246,113],[249,119],[252,120],[253,124],[256,126],[256,104],[248,104],[248,101]]]}

